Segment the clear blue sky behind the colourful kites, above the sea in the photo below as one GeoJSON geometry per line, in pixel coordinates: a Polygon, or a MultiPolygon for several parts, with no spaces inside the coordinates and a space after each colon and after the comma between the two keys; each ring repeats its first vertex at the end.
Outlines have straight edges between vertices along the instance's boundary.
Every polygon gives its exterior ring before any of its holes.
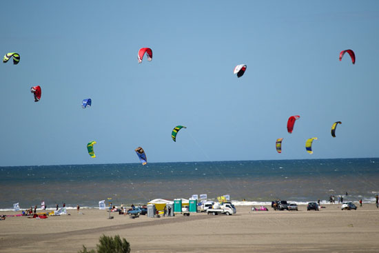
{"type": "Polygon", "coordinates": [[[137,163],[139,146],[149,162],[378,157],[379,1],[0,6],[2,55],[21,55],[0,68],[0,166],[137,163]]]}

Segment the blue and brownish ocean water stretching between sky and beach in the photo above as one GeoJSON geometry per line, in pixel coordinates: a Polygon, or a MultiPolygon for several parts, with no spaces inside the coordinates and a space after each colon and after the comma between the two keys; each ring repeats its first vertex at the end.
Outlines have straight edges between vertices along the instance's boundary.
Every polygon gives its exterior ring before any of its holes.
{"type": "Polygon", "coordinates": [[[0,167],[0,210],[45,201],[48,208],[96,208],[152,199],[208,199],[228,194],[236,205],[268,205],[276,199],[298,204],[345,201],[374,203],[379,193],[379,159],[214,161],[103,165],[0,167]],[[347,193],[347,194],[346,194],[347,193]],[[245,199],[245,201],[243,201],[245,199]]]}

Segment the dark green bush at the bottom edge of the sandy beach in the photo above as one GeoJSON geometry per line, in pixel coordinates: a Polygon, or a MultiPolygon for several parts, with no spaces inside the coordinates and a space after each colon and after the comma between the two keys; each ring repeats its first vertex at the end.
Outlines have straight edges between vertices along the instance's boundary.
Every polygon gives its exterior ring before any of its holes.
{"type": "Polygon", "coordinates": [[[83,250],[79,250],[78,253],[130,253],[130,244],[123,238],[121,240],[119,235],[103,236],[99,239],[99,244],[96,245],[96,250],[88,251],[85,245],[83,250]]]}

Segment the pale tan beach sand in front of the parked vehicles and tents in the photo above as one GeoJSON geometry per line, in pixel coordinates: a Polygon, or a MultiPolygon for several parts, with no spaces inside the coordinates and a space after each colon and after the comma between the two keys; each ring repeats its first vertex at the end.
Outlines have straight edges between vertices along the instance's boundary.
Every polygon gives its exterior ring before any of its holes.
{"type": "MultiPolygon", "coordinates": [[[[258,207],[258,206],[257,206],[258,207]]],[[[78,252],[96,247],[102,234],[125,238],[132,252],[379,252],[379,210],[325,205],[319,212],[252,212],[237,206],[233,216],[205,213],[147,218],[84,209],[48,219],[7,217],[0,221],[0,252],[78,252]]],[[[1,212],[15,214],[15,212],[1,212]]]]}

